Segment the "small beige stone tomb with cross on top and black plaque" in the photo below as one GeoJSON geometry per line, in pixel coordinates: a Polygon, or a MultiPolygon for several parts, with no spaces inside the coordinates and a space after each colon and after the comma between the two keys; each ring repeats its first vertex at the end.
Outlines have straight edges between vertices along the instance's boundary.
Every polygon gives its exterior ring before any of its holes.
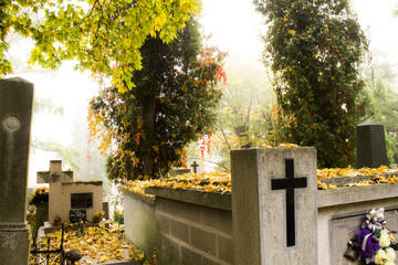
{"type": "Polygon", "coordinates": [[[38,183],[50,183],[49,222],[57,215],[72,223],[93,220],[103,211],[103,182],[74,181],[73,171],[62,171],[62,161],[50,161],[50,171],[38,172],[38,183]]]}

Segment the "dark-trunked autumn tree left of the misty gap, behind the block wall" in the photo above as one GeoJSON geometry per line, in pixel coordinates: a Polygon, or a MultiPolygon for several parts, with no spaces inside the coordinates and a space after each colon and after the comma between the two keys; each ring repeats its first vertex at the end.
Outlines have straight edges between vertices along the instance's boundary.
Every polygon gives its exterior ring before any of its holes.
{"type": "Polygon", "coordinates": [[[114,150],[107,162],[111,179],[167,173],[180,166],[186,145],[213,123],[222,54],[202,46],[198,26],[190,20],[169,44],[147,38],[139,49],[143,67],[128,75],[135,87],[105,88],[92,100],[91,128],[104,136],[104,148],[114,150]]]}

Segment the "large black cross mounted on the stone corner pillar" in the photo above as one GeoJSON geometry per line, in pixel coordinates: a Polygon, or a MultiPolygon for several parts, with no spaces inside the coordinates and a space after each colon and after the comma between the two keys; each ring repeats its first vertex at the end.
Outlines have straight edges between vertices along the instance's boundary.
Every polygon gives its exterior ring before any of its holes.
{"type": "Polygon", "coordinates": [[[307,178],[294,178],[294,160],[285,159],[285,179],[272,179],[271,190],[286,190],[286,245],[295,245],[294,189],[306,188],[307,178]]]}

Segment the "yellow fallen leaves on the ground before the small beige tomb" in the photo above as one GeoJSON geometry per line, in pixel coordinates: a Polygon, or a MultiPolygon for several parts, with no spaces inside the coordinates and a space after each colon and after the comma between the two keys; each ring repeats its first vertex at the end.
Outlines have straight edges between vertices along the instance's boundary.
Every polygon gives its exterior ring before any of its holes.
{"type": "MultiPolygon", "coordinates": [[[[59,250],[61,243],[61,231],[50,233],[40,239],[40,248],[48,250],[48,239],[50,237],[50,250],[59,250]]],[[[105,229],[103,224],[98,227],[85,227],[84,235],[78,235],[77,231],[64,233],[64,251],[77,250],[82,254],[82,259],[76,264],[102,264],[109,261],[140,261],[143,264],[150,265],[149,261],[144,261],[144,253],[134,248],[127,241],[123,240],[119,227],[105,229]]],[[[53,263],[55,264],[55,263],[53,263]]]]}

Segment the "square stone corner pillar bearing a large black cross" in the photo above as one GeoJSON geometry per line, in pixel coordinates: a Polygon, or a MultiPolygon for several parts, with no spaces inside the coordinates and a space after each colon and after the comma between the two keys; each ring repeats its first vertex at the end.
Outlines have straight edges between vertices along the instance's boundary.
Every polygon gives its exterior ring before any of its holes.
{"type": "Polygon", "coordinates": [[[231,151],[233,264],[317,264],[316,150],[231,151]]]}

